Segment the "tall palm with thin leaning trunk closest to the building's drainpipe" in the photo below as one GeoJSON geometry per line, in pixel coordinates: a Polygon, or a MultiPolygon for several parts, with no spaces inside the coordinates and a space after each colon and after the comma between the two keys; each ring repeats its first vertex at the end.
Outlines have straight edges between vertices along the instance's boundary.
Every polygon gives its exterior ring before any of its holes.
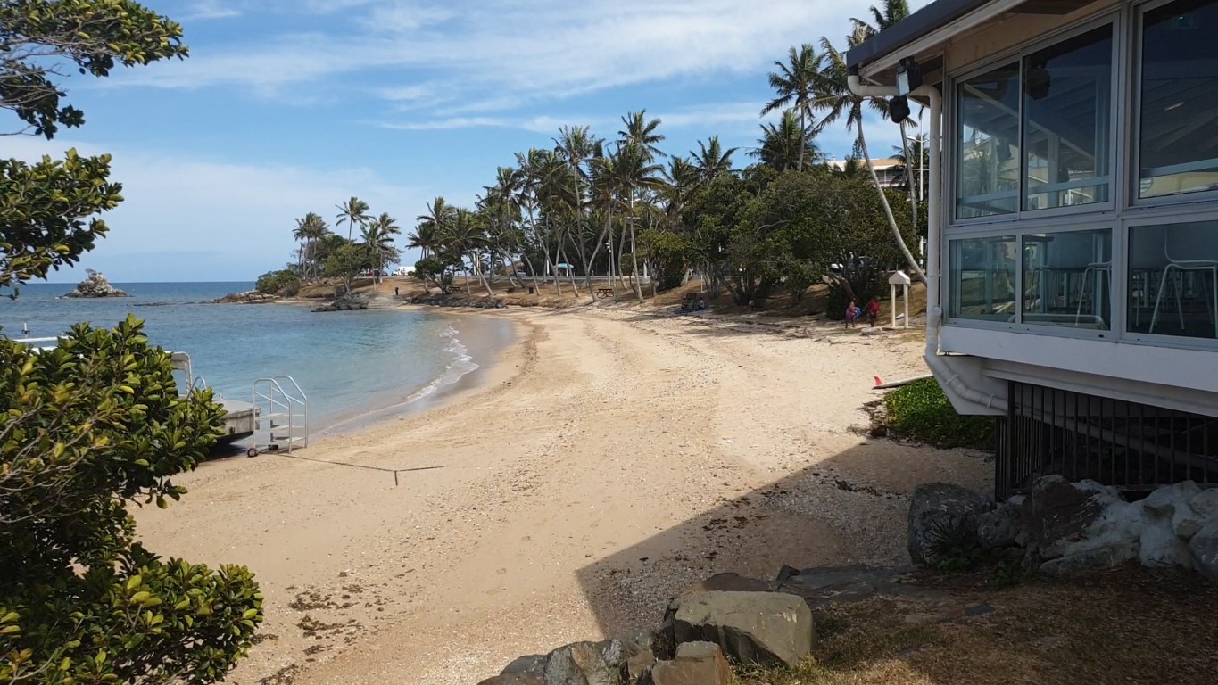
{"type": "MultiPolygon", "coordinates": [[[[865,40],[865,37],[866,30],[860,27],[855,27],[854,32],[847,37],[847,44],[849,46],[859,45],[862,40],[865,40]]],[[[822,131],[829,124],[845,118],[847,130],[854,130],[856,133],[859,151],[862,153],[862,158],[867,163],[867,172],[871,174],[871,183],[876,186],[876,192],[879,193],[879,204],[884,208],[884,217],[888,219],[888,226],[893,230],[893,237],[896,240],[896,246],[900,248],[901,254],[905,256],[905,260],[909,263],[915,276],[922,282],[926,282],[926,274],[922,271],[922,268],[918,266],[917,260],[914,259],[914,254],[910,252],[909,246],[905,245],[905,238],[901,236],[900,226],[896,225],[896,217],[893,215],[893,208],[888,203],[888,195],[884,192],[884,187],[879,185],[879,176],[876,175],[876,168],[871,163],[871,153],[867,151],[867,137],[862,133],[864,105],[870,106],[887,117],[888,103],[884,100],[855,95],[849,86],[850,71],[845,64],[845,56],[836,49],[827,38],[821,38],[821,49],[825,51],[825,64],[821,71],[817,91],[812,99],[812,108],[823,112],[823,114],[820,122],[816,123],[814,130],[822,131]]]]}

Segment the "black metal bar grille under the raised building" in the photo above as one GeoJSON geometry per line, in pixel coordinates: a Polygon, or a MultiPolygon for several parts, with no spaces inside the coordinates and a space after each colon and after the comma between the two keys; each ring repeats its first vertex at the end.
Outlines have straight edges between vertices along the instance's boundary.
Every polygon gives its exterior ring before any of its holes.
{"type": "Polygon", "coordinates": [[[1010,399],[995,431],[1000,499],[1052,473],[1134,493],[1218,485],[1218,419],[1016,382],[1010,399]]]}

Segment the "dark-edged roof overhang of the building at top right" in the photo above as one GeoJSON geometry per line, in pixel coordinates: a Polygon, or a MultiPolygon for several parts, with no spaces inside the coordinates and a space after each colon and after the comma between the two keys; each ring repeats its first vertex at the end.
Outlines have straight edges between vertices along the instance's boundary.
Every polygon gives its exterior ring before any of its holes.
{"type": "Polygon", "coordinates": [[[927,62],[957,35],[1010,12],[1066,15],[1090,0],[935,0],[851,47],[847,66],[864,78],[893,69],[905,57],[927,62]]]}

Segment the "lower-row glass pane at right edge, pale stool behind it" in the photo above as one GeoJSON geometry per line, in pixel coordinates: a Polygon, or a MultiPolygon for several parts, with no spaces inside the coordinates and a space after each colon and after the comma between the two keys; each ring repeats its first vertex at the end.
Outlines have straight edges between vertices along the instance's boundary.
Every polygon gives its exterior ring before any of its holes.
{"type": "Polygon", "coordinates": [[[1134,333],[1218,338],[1218,221],[1129,230],[1134,333]]]}

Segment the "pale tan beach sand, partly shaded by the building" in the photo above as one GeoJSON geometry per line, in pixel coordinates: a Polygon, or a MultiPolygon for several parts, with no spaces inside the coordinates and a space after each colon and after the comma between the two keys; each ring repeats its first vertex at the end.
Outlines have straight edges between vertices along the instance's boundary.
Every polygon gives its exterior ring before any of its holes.
{"type": "Polygon", "coordinates": [[[716,572],[901,563],[917,483],[990,479],[976,455],[850,429],[872,376],[924,372],[916,335],[476,316],[519,332],[476,387],[296,453],[350,466],[208,462],[136,512],[150,549],[257,573],[267,621],[230,683],[477,683],[655,625],[716,572]]]}

